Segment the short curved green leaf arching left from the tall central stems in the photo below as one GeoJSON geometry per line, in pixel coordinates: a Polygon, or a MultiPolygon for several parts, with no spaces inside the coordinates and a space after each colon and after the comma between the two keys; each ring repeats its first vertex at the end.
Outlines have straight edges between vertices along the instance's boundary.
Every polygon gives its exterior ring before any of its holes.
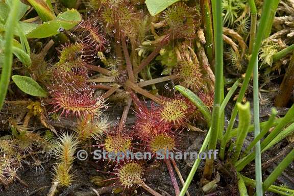
{"type": "Polygon", "coordinates": [[[208,107],[201,101],[201,99],[193,93],[191,90],[183,87],[183,86],[176,86],[176,90],[180,91],[185,97],[187,97],[195,106],[198,107],[200,112],[205,117],[208,126],[210,127],[211,123],[211,113],[208,107]]]}

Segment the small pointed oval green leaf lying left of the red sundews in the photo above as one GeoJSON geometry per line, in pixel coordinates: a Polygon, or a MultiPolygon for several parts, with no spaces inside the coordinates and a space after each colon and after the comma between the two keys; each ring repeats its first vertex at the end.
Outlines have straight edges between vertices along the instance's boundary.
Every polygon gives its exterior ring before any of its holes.
{"type": "Polygon", "coordinates": [[[47,96],[47,92],[30,77],[14,75],[12,76],[12,80],[24,93],[30,94],[32,96],[47,96]]]}

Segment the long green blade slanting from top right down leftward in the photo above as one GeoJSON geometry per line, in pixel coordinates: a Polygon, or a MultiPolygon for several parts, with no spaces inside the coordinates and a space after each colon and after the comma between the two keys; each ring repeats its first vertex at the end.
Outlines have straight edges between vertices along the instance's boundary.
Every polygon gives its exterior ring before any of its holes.
{"type": "MultiPolygon", "coordinates": [[[[264,31],[266,30],[268,23],[272,22],[272,21],[268,20],[268,18],[272,18],[271,16],[274,14],[273,12],[271,12],[272,6],[273,6],[273,4],[276,4],[277,2],[279,2],[279,0],[265,0],[263,3],[263,12],[261,14],[259,29],[258,29],[258,32],[256,35],[253,50],[252,50],[252,56],[250,58],[249,65],[246,70],[246,75],[244,77],[243,84],[241,86],[241,89],[240,89],[240,92],[238,95],[237,103],[240,103],[243,100],[244,94],[245,94],[247,87],[249,85],[249,81],[250,81],[251,74],[252,74],[252,71],[254,68],[254,64],[256,62],[256,59],[258,58],[259,48],[260,48],[261,42],[264,38],[264,31]]],[[[222,139],[222,143],[220,145],[220,158],[221,159],[224,159],[224,157],[225,157],[226,144],[229,139],[229,135],[233,129],[233,126],[235,124],[235,119],[236,119],[237,113],[238,113],[238,110],[235,105],[235,107],[232,111],[232,114],[231,114],[231,118],[229,121],[227,131],[226,131],[226,133],[222,139]]]]}

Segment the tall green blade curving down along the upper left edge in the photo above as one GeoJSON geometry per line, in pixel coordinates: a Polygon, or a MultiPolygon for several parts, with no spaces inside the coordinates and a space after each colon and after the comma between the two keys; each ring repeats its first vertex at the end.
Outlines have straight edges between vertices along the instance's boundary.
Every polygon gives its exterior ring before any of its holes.
{"type": "Polygon", "coordinates": [[[4,63],[3,63],[1,78],[0,78],[0,110],[3,107],[4,100],[5,100],[8,86],[9,86],[9,82],[10,82],[12,62],[13,62],[13,54],[12,54],[13,37],[14,37],[13,30],[17,23],[19,5],[20,5],[19,0],[13,1],[13,5],[6,23],[7,26],[5,31],[4,63]]]}

